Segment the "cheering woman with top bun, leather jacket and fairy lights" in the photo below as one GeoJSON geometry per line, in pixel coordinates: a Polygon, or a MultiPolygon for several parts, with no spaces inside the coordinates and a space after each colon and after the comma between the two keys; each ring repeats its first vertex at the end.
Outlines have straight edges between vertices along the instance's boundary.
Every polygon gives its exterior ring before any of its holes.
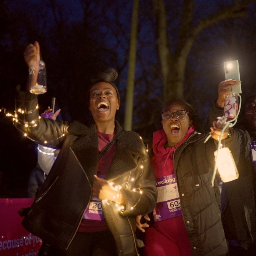
{"type": "Polygon", "coordinates": [[[41,145],[61,149],[34,203],[20,211],[23,226],[42,238],[48,255],[138,255],[135,216],[152,211],[157,190],[142,139],[115,120],[116,77],[107,68],[92,78],[89,127],[39,119],[37,95],[16,97],[16,128],[41,145]]]}

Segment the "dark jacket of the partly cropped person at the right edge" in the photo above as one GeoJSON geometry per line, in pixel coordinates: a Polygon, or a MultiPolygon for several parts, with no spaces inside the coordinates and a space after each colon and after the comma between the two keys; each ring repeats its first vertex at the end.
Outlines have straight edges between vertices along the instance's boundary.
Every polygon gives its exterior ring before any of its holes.
{"type": "MultiPolygon", "coordinates": [[[[222,115],[223,108],[212,106],[208,126],[216,117],[222,115]]],[[[250,138],[245,131],[244,137],[237,142],[237,147],[241,149],[239,158],[236,159],[239,177],[237,180],[223,183],[221,192],[221,215],[225,236],[228,240],[240,241],[240,246],[244,249],[256,243],[256,173],[249,146],[255,139],[250,138]]]]}

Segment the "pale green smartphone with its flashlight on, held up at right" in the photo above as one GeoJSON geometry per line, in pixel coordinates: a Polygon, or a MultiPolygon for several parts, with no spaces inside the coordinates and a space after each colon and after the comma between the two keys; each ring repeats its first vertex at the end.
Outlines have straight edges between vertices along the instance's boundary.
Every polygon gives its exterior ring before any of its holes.
{"type": "MultiPolygon", "coordinates": [[[[224,62],[225,80],[234,79],[240,81],[239,65],[238,60],[224,62]]],[[[231,85],[232,93],[242,93],[241,83],[237,85],[231,85]]]]}

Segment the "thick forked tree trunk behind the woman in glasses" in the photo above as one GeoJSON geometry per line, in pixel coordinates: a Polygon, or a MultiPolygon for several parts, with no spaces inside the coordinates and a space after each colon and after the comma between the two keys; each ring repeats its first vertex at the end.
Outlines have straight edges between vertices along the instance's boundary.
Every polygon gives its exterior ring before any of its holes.
{"type": "Polygon", "coordinates": [[[199,33],[220,20],[245,17],[247,14],[247,5],[253,2],[255,2],[255,0],[234,1],[232,5],[223,8],[221,12],[213,13],[207,18],[199,20],[196,26],[193,26],[194,1],[184,0],[178,42],[175,51],[172,54],[168,38],[164,0],[153,0],[153,8],[157,23],[156,39],[158,56],[163,81],[163,98],[165,102],[172,99],[184,98],[184,79],[188,54],[199,33]]]}

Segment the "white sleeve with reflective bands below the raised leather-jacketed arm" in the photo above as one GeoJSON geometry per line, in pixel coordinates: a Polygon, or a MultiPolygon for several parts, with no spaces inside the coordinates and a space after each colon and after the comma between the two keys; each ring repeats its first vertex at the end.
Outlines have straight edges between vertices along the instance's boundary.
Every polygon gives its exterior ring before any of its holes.
{"type": "Polygon", "coordinates": [[[37,161],[42,170],[48,175],[56,159],[54,148],[48,148],[42,145],[37,146],[37,161]]]}

